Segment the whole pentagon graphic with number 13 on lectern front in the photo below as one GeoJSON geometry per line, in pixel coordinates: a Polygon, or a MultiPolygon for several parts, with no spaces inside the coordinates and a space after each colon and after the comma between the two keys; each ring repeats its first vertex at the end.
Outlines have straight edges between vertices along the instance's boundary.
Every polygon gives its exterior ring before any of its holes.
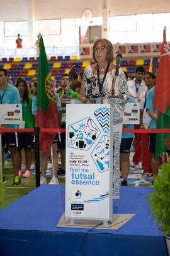
{"type": "Polygon", "coordinates": [[[101,131],[91,118],[84,118],[68,126],[67,147],[89,150],[101,131]]]}

